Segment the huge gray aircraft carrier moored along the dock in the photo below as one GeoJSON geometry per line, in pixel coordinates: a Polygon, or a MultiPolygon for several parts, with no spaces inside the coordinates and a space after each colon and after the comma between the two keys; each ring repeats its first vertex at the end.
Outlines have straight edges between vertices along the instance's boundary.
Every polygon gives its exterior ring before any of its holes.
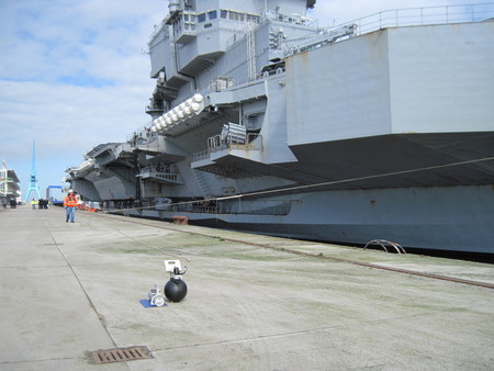
{"type": "Polygon", "coordinates": [[[493,254],[485,9],[447,22],[422,9],[403,26],[380,14],[366,31],[319,27],[314,5],[169,1],[148,43],[153,121],[89,151],[71,187],[133,215],[493,254]]]}

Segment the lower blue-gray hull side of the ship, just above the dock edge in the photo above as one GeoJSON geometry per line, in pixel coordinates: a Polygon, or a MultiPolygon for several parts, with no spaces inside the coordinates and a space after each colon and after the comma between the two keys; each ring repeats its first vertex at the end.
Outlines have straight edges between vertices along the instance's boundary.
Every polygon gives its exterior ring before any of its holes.
{"type": "Polygon", "coordinates": [[[480,254],[492,254],[493,246],[492,186],[321,191],[189,209],[121,212],[165,220],[183,215],[198,225],[351,245],[385,239],[480,254]]]}

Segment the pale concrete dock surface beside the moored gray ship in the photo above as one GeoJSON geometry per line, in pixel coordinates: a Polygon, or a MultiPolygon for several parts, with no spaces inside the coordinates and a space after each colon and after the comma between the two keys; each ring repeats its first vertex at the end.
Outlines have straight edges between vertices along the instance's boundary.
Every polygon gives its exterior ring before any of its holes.
{"type": "Polygon", "coordinates": [[[0,228],[0,370],[494,370],[492,265],[58,207],[0,228]],[[187,296],[144,307],[168,259],[187,296]]]}

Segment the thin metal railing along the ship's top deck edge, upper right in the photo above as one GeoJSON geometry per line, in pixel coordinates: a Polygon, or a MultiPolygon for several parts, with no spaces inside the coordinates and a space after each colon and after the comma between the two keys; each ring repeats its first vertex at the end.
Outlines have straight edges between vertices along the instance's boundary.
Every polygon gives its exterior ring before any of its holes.
{"type": "Polygon", "coordinates": [[[357,34],[363,35],[389,27],[482,22],[493,16],[493,2],[464,5],[407,8],[385,10],[328,27],[328,30],[338,29],[344,25],[357,24],[357,34]]]}

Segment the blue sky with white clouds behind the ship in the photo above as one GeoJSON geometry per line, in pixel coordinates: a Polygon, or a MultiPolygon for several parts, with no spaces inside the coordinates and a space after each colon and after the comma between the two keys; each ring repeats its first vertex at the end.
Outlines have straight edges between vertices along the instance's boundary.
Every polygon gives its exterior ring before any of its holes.
{"type": "MultiPolygon", "coordinates": [[[[468,0],[318,0],[310,18],[339,24],[383,10],[468,0]]],[[[143,53],[167,0],[0,0],[0,159],[25,194],[36,143],[42,194],[93,146],[150,121],[143,53]]]]}

